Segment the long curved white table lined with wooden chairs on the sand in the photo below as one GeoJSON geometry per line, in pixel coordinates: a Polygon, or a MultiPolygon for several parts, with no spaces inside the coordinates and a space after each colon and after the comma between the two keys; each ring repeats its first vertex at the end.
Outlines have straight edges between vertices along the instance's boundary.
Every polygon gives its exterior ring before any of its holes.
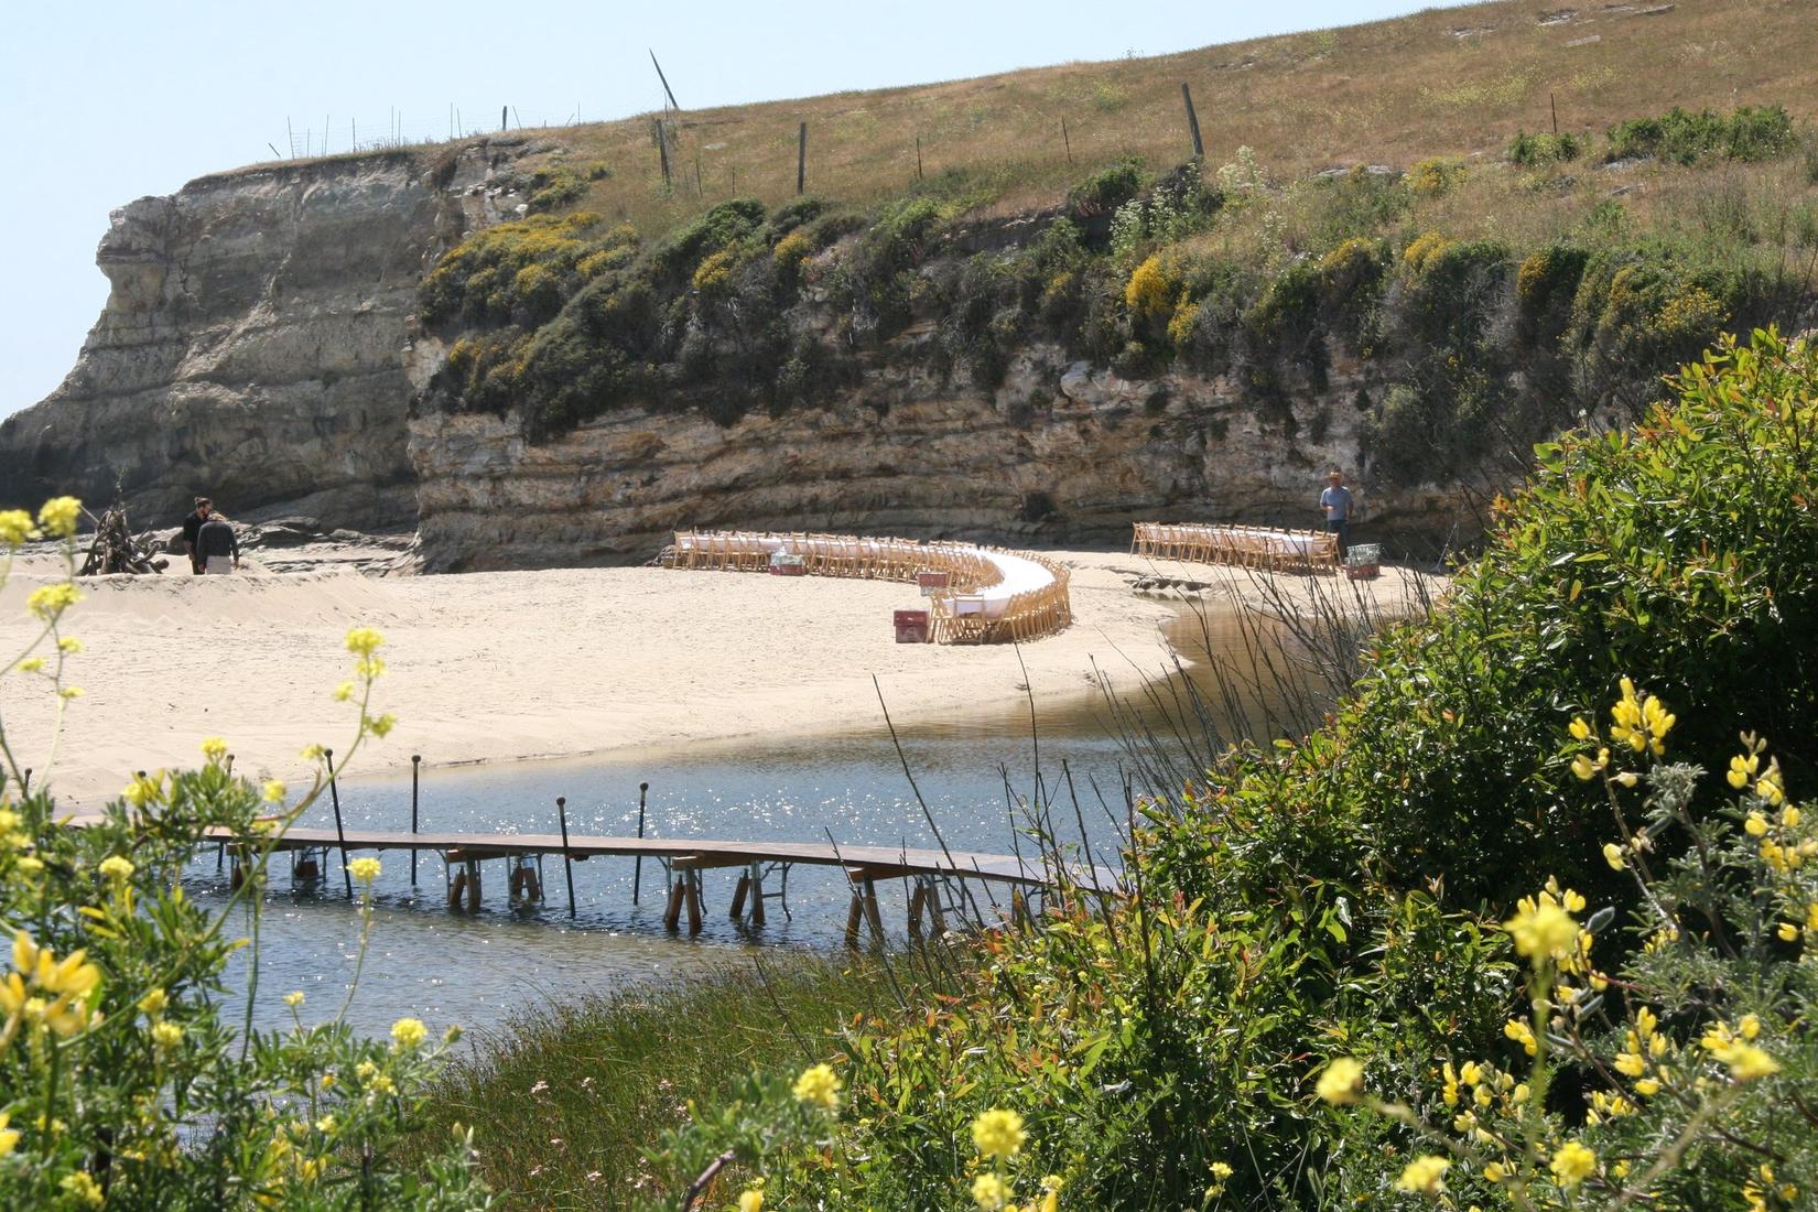
{"type": "Polygon", "coordinates": [[[862,538],[856,534],[676,531],[665,563],[674,569],[764,572],[774,554],[798,556],[809,576],[851,576],[914,583],[920,572],[947,572],[947,591],[929,600],[936,643],[1000,643],[1051,636],[1073,623],[1067,569],[1025,551],[978,543],[862,538]],[[1007,600],[980,591],[1004,581],[991,552],[1042,565],[1049,581],[1007,600]]]}

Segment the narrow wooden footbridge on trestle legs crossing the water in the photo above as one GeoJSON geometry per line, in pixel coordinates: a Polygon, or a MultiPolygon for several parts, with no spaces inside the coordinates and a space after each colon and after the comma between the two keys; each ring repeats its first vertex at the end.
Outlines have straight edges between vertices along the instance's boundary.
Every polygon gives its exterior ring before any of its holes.
{"type": "MultiPolygon", "coordinates": [[[[436,854],[444,865],[447,903],[456,912],[478,912],[482,903],[482,876],[485,863],[498,861],[505,869],[505,887],[513,905],[544,901],[544,859],[562,858],[567,881],[569,916],[574,916],[574,863],[594,858],[631,858],[640,865],[653,859],[664,870],[667,907],[664,925],[678,930],[687,914],[691,934],[702,929],[702,872],[713,869],[740,869],[733,892],[731,918],[760,927],[765,923],[765,901],[778,901],[789,914],[789,869],[834,867],[845,872],[853,896],[845,918],[847,943],[858,943],[864,927],[873,938],[884,938],[884,919],[878,910],[878,881],[902,879],[909,887],[909,934],[920,938],[924,921],[936,932],[947,929],[945,916],[956,909],[947,896],[962,881],[1007,885],[1011,912],[1027,914],[1027,896],[1071,887],[1094,896],[1122,896],[1122,874],[1094,865],[1034,865],[1013,854],[976,854],[969,850],[925,850],[876,845],[838,845],[833,841],[720,841],[704,838],[600,838],[571,836],[565,814],[560,834],[465,834],[465,832],[385,832],[347,829],[289,829],[276,838],[245,836],[229,830],[211,830],[224,854],[233,856],[233,878],[240,879],[249,852],[265,849],[285,852],[291,859],[291,878],[298,883],[320,881],[327,874],[331,856],[340,856],[342,879],[353,892],[347,876],[347,856],[360,850],[411,852],[411,883],[416,883],[416,856],[436,854]]],[[[638,879],[633,881],[633,903],[638,899],[638,879]]]]}

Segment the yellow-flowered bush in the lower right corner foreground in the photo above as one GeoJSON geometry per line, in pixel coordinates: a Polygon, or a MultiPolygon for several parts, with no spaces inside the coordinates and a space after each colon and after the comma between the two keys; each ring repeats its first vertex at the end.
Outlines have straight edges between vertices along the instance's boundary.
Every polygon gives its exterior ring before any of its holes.
{"type": "Polygon", "coordinates": [[[1696,818],[1702,772],[1663,761],[1674,723],[1623,678],[1607,738],[1583,718],[1567,727],[1573,770],[1602,781],[1620,838],[1605,859],[1640,894],[1620,972],[1596,961],[1614,912],[1587,918],[1585,898],[1549,881],[1503,923],[1529,972],[1527,1010],[1503,1030],[1513,1065],[1442,1059],[1436,1096],[1413,1105],[1373,1092],[1353,1058],[1320,1074],[1324,1101],[1362,1103],[1445,1150],[1409,1163],[1402,1190],[1516,1208],[1756,1210],[1803,1207],[1814,1190],[1818,1134],[1798,1090],[1818,1078],[1818,829],[1754,734],[1725,774],[1738,798],[1696,818]],[[1689,845],[1663,858],[1674,834],[1689,845]],[[1571,1114],[1554,1092],[1563,1070],[1582,1090],[1571,1114]]]}

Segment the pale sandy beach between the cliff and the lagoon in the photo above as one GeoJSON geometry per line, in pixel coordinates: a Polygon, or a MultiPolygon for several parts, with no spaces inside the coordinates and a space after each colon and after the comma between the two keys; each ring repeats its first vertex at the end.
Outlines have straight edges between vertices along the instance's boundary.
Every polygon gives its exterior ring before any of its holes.
{"type": "MultiPolygon", "coordinates": [[[[893,720],[918,723],[1002,712],[1027,689],[1038,701],[1096,694],[1093,665],[1127,690],[1164,672],[1162,627],[1178,596],[1138,594],[1144,576],[1211,581],[1207,598],[1254,598],[1253,574],[1122,552],[1051,552],[1073,569],[1076,623],[1011,645],[898,645],[891,611],[913,585],[667,569],[558,569],[373,578],[345,567],[240,576],[107,576],[82,581],[65,616],[84,641],[53,769],[67,807],[98,807],[131,770],[191,765],[222,736],[236,769],[307,778],[298,752],[344,747],[355,712],[331,692],[349,676],[349,627],[385,636],[375,709],[396,730],[373,765],[411,752],[438,763],[664,750],[740,738],[833,734],[893,720]],[[876,687],[873,685],[876,676],[876,687]]],[[[0,591],[0,643],[33,634],[25,596],[55,574],[22,558],[0,591]]],[[[1333,578],[1282,578],[1289,600],[1333,578]]],[[[1396,601],[1385,569],[1369,596],[1396,601]]],[[[1349,594],[1349,589],[1345,589],[1349,594]]],[[[47,683],[0,681],[7,740],[42,772],[55,698],[47,683]]],[[[353,776],[358,778],[356,761],[353,776]]]]}

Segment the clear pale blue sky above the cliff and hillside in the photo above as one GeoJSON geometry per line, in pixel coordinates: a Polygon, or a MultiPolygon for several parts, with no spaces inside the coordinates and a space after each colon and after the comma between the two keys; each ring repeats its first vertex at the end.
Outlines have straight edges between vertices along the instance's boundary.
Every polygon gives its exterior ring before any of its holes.
{"type": "MultiPolygon", "coordinates": [[[[0,38],[0,416],[75,363],[107,298],[95,245],[107,213],[204,173],[271,158],[285,120],[345,149],[402,111],[445,134],[449,105],[485,129],[620,118],[662,102],[654,47],[682,105],[811,96],[1014,67],[1162,55],[1349,25],[1409,0],[1074,4],[771,0],[476,4],[473,0],[80,0],[7,5],[0,38]],[[491,114],[491,118],[489,118],[491,114]]],[[[1443,7],[1443,5],[1440,5],[1443,7]]]]}

